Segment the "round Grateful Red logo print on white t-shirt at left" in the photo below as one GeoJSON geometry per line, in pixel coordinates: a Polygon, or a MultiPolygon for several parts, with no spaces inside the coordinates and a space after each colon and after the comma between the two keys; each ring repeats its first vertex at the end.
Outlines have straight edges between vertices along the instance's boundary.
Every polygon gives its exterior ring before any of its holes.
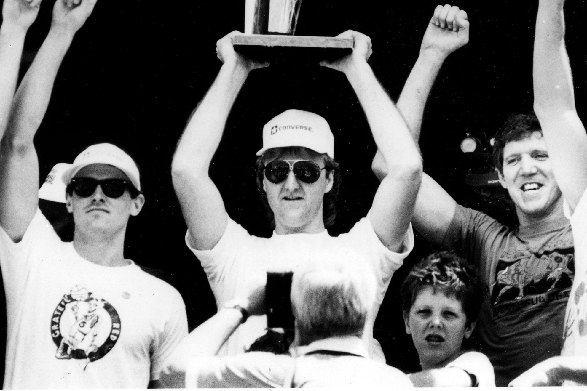
{"type": "Polygon", "coordinates": [[[57,345],[55,357],[85,359],[85,370],[116,344],[120,317],[109,302],[76,285],[53,311],[51,336],[57,345]]]}

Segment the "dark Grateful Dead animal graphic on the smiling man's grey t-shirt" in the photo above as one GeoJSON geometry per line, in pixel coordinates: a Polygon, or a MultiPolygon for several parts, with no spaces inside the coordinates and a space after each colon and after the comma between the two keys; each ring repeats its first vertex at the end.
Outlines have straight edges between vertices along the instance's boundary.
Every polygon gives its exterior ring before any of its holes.
{"type": "Polygon", "coordinates": [[[553,247],[501,254],[491,294],[494,317],[568,300],[575,273],[573,247],[553,247]]]}

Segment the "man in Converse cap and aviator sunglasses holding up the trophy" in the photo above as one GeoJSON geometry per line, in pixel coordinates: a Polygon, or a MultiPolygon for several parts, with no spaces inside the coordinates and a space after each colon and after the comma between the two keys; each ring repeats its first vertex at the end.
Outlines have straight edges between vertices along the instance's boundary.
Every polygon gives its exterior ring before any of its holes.
{"type": "MultiPolygon", "coordinates": [[[[392,274],[413,247],[410,219],[421,158],[401,115],[367,64],[370,39],[353,31],[343,33],[340,36],[354,40],[352,54],[321,65],[348,77],[393,175],[380,183],[365,218],[349,233],[329,236],[326,227],[333,222],[340,186],[334,137],[319,115],[285,111],[265,125],[263,148],[257,152],[259,189],[275,223],[272,237],[264,239],[249,235],[230,219],[208,175],[239,90],[251,70],[269,65],[236,53],[232,46],[236,34],[218,41],[218,57],[224,64],[185,128],[173,159],[173,183],[188,226],[187,245],[201,261],[219,308],[247,294],[251,280],[264,278],[266,271],[295,271],[307,263],[335,258],[339,251],[356,254],[357,262],[364,263],[377,281],[363,338],[370,356],[384,361],[373,339],[373,322],[392,274]],[[400,142],[408,146],[399,148],[400,142]]],[[[249,317],[221,353],[241,353],[266,327],[265,316],[249,317]]]]}

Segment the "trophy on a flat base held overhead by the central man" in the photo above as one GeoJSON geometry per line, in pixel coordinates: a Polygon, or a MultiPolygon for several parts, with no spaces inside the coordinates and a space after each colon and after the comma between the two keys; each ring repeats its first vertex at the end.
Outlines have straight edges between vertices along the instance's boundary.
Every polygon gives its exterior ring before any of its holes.
{"type": "Polygon", "coordinates": [[[302,0],[245,0],[245,34],[235,50],[259,60],[295,56],[333,60],[352,52],[352,38],[295,35],[302,0]]]}

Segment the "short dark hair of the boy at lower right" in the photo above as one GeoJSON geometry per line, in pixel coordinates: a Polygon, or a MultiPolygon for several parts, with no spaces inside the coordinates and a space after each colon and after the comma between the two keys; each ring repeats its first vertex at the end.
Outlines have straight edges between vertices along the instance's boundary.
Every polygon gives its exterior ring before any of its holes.
{"type": "Polygon", "coordinates": [[[453,251],[430,254],[411,268],[400,288],[404,317],[410,313],[421,288],[426,286],[431,286],[434,293],[440,290],[460,301],[467,325],[477,320],[484,298],[483,286],[474,268],[453,251]]]}

